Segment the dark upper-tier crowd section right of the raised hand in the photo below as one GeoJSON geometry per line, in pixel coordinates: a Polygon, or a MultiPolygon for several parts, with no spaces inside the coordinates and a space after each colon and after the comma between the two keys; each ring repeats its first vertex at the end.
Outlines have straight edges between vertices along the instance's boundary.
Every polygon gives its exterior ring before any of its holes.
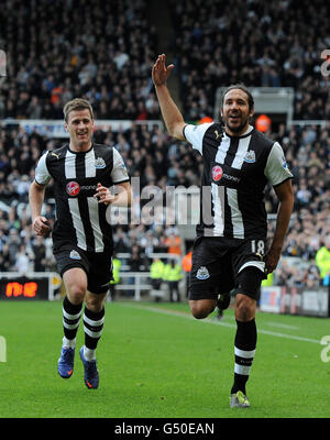
{"type": "MultiPolygon", "coordinates": [[[[229,84],[293,87],[296,120],[329,119],[328,0],[169,0],[185,118],[212,116],[229,84]]],[[[175,70],[175,72],[176,72],[175,70]]]]}

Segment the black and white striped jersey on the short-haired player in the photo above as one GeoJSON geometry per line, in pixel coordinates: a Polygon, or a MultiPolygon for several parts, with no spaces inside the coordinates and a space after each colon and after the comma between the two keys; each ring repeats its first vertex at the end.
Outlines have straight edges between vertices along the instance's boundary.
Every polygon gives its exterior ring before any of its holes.
{"type": "Polygon", "coordinates": [[[97,184],[106,187],[129,182],[119,152],[108,145],[92,144],[87,152],[69,145],[50,151],[40,158],[35,180],[55,185],[56,221],[54,251],[76,245],[84,251],[103,252],[112,248],[112,230],[106,219],[107,206],[94,198],[97,184]]]}

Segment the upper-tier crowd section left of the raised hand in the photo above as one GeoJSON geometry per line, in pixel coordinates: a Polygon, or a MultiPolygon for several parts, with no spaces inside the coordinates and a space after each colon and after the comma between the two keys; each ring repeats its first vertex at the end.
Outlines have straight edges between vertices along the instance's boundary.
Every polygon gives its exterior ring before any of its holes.
{"type": "Polygon", "coordinates": [[[64,102],[84,97],[98,119],[158,119],[150,75],[157,34],[146,7],[146,0],[2,1],[0,117],[63,119],[64,102]]]}

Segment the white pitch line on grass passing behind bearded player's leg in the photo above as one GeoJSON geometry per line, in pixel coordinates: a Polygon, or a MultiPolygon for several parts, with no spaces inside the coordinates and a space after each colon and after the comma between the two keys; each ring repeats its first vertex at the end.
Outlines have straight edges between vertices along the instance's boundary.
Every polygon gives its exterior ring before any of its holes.
{"type": "MultiPolygon", "coordinates": [[[[124,306],[133,307],[133,308],[141,309],[141,310],[152,311],[152,312],[155,312],[155,314],[163,314],[163,315],[169,315],[169,316],[179,317],[179,318],[186,318],[186,319],[196,321],[196,318],[194,318],[191,315],[187,315],[187,314],[182,312],[182,311],[166,310],[166,309],[161,309],[161,308],[157,308],[157,307],[138,306],[138,305],[132,305],[132,304],[125,304],[124,306]]],[[[217,321],[217,320],[213,320],[213,319],[210,319],[210,318],[198,319],[197,321],[198,322],[205,322],[205,323],[211,323],[213,326],[229,327],[231,329],[235,329],[237,328],[237,324],[234,324],[234,323],[217,321]]],[[[317,339],[296,337],[294,334],[278,333],[276,331],[263,330],[263,329],[260,329],[260,328],[257,328],[257,332],[261,333],[261,334],[270,334],[272,337],[277,337],[277,338],[292,339],[294,341],[312,342],[312,343],[320,344],[320,341],[318,341],[317,339]]]]}

